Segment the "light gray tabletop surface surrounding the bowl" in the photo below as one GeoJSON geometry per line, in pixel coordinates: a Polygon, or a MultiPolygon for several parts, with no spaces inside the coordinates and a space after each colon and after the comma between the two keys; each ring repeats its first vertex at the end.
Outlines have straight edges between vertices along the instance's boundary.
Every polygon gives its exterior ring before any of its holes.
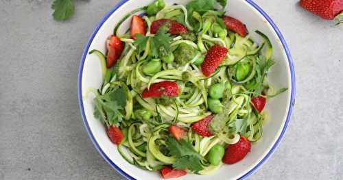
{"type": "MultiPolygon", "coordinates": [[[[255,0],[294,57],[296,109],[283,142],[250,179],[343,179],[343,25],[296,0],[255,0]]],[[[117,1],[76,1],[64,23],[51,1],[0,0],[0,179],[123,179],[95,150],[78,108],[78,66],[117,1]]]]}

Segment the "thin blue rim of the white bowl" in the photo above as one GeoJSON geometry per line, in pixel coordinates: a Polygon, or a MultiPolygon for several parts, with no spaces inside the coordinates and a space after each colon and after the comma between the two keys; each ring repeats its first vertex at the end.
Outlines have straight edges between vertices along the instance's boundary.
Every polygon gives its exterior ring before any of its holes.
{"type": "MultiPolygon", "coordinates": [[[[95,30],[93,31],[93,34],[88,39],[88,44],[86,44],[86,47],[84,48],[84,53],[82,55],[82,60],[81,60],[80,68],[79,68],[79,75],[78,75],[78,99],[79,99],[79,106],[80,106],[80,111],[81,111],[81,115],[82,115],[82,120],[84,122],[84,126],[86,127],[86,130],[88,132],[88,136],[91,138],[91,140],[92,140],[95,148],[97,149],[97,151],[99,151],[100,155],[102,155],[102,157],[106,160],[106,162],[108,162],[108,164],[110,164],[110,166],[115,168],[115,170],[117,170],[117,172],[119,172],[121,175],[123,175],[123,177],[126,177],[127,179],[134,179],[134,177],[128,175],[128,173],[124,172],[121,168],[119,168],[119,166],[117,166],[104,153],[104,151],[101,149],[99,144],[96,142],[96,140],[95,140],[95,138],[93,136],[93,133],[92,133],[92,131],[91,131],[89,125],[88,125],[88,121],[87,121],[86,115],[84,113],[84,105],[83,105],[83,100],[82,100],[82,72],[83,72],[83,68],[84,68],[84,61],[86,60],[86,55],[88,54],[88,51],[89,51],[89,47],[91,46],[91,43],[93,42],[93,39],[95,38],[95,35],[99,31],[99,29],[102,27],[102,25],[107,21],[107,19],[110,17],[110,15],[112,15],[118,8],[120,8],[123,4],[125,4],[128,1],[130,1],[130,0],[121,0],[121,1],[119,1],[119,3],[117,3],[112,8],[112,10],[110,10],[110,12],[108,12],[102,18],[102,20],[97,25],[97,27],[95,27],[95,30]]],[[[265,13],[259,7],[259,5],[254,3],[252,0],[246,0],[246,2],[249,3],[253,8],[255,8],[259,13],[262,14],[262,16],[268,21],[268,23],[270,23],[270,25],[272,26],[272,28],[274,29],[274,31],[278,35],[279,39],[281,40],[281,43],[283,44],[283,49],[285,50],[286,55],[287,55],[287,60],[288,60],[289,69],[290,69],[290,73],[291,73],[292,92],[291,92],[291,101],[289,103],[289,109],[288,109],[288,113],[287,113],[287,119],[285,121],[285,125],[283,125],[283,130],[281,131],[281,134],[280,134],[279,138],[277,138],[276,142],[272,146],[272,149],[270,149],[270,151],[267,153],[267,155],[265,155],[265,157],[263,157],[261,162],[259,162],[254,168],[252,168],[251,170],[246,172],[246,174],[244,174],[243,176],[239,177],[238,179],[246,179],[248,176],[252,175],[252,173],[256,172],[259,168],[261,168],[261,166],[263,164],[265,164],[265,162],[268,161],[270,156],[274,153],[275,149],[279,146],[283,136],[285,135],[285,131],[287,129],[289,120],[291,119],[293,108],[294,108],[294,103],[295,103],[295,97],[296,97],[296,77],[295,77],[295,73],[294,73],[294,64],[293,64],[293,60],[292,60],[292,55],[291,55],[291,53],[290,53],[290,51],[288,49],[287,43],[285,42],[285,38],[283,38],[283,35],[281,34],[281,31],[279,30],[278,27],[276,27],[274,21],[272,21],[272,18],[270,18],[270,16],[268,16],[268,14],[265,13]]]]}

